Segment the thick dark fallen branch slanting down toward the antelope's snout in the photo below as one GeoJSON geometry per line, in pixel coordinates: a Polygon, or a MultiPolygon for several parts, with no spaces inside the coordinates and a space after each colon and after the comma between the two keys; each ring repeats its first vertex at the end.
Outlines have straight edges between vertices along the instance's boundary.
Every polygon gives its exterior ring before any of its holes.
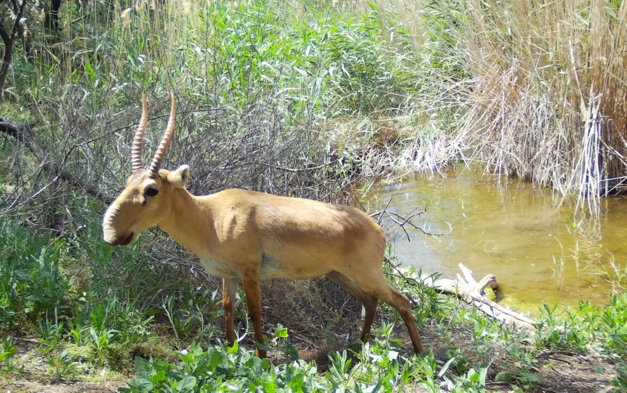
{"type": "Polygon", "coordinates": [[[43,170],[51,174],[55,181],[56,179],[61,179],[68,182],[68,184],[71,184],[72,186],[85,190],[85,192],[91,196],[97,197],[98,199],[105,199],[106,195],[102,192],[102,190],[90,186],[73,174],[64,170],[63,165],[59,167],[48,159],[46,149],[40,144],[39,140],[37,140],[37,137],[33,133],[34,125],[35,123],[23,124],[0,118],[0,132],[11,135],[17,139],[18,142],[22,142],[24,146],[28,147],[28,150],[30,150],[40,162],[43,170]]]}

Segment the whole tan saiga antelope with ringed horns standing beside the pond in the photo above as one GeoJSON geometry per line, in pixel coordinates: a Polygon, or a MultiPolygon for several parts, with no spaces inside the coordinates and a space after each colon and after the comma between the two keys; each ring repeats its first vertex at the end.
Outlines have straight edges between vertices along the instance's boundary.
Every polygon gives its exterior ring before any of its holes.
{"type": "MultiPolygon", "coordinates": [[[[148,122],[145,94],[131,149],[132,175],[105,212],[102,229],[108,244],[132,243],[144,229],[158,225],[191,249],[204,270],[223,279],[226,339],[233,345],[233,299],[240,279],[248,301],[255,340],[263,343],[260,278],[307,279],[326,275],[364,305],[361,340],[366,340],[377,299],[398,311],[416,352],[422,352],[409,300],[389,286],[381,273],[386,239],[366,213],[349,206],[228,189],[193,196],[185,188],[189,167],[161,169],[172,139],[174,96],[166,131],[150,166],[142,163],[148,122]]],[[[257,348],[257,355],[266,352],[257,348]]]]}

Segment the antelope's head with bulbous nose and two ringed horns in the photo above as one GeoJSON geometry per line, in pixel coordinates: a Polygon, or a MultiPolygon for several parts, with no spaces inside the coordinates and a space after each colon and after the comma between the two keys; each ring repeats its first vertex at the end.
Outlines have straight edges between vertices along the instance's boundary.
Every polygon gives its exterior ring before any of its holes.
{"type": "Polygon", "coordinates": [[[102,223],[104,240],[114,246],[125,246],[137,239],[137,235],[167,217],[171,207],[171,194],[177,188],[185,187],[189,178],[189,167],[181,165],[174,171],[161,169],[161,161],[174,131],[176,108],[174,95],[170,118],[167,122],[161,144],[155,152],[149,167],[142,162],[144,135],[148,124],[148,104],[142,95],[142,117],[135,132],[131,148],[132,174],[126,186],[105,212],[102,223]]]}

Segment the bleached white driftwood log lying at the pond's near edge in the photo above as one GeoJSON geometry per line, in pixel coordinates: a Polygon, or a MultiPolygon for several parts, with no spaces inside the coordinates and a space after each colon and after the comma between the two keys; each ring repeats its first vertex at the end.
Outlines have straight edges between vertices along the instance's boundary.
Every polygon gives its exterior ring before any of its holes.
{"type": "Polygon", "coordinates": [[[485,293],[488,286],[490,286],[492,291],[497,295],[497,299],[502,298],[498,288],[497,279],[494,275],[487,275],[477,282],[470,269],[461,263],[458,266],[463,273],[463,277],[458,273],[457,280],[451,280],[450,278],[438,278],[437,280],[433,280],[428,278],[424,281],[424,284],[443,293],[456,295],[469,305],[477,307],[488,316],[503,321],[508,325],[524,327],[527,329],[534,328],[534,320],[505,308],[499,305],[496,301],[488,298],[489,295],[486,295],[485,293]]]}

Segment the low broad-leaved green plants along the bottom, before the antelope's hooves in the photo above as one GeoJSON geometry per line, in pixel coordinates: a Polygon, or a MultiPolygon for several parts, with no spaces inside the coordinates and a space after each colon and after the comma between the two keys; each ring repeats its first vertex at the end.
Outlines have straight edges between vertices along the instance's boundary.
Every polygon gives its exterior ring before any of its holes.
{"type": "MultiPolygon", "coordinates": [[[[432,392],[485,389],[487,369],[479,372],[471,369],[451,379],[445,374],[453,359],[440,366],[441,362],[430,354],[403,357],[396,347],[398,343],[390,339],[392,328],[391,324],[384,326],[378,332],[382,340],[372,345],[365,343],[352,356],[346,350],[330,354],[328,372],[319,370],[314,362],[303,360],[273,365],[268,359],[256,357],[254,352],[241,350],[238,343],[226,350],[214,346],[203,350],[192,343],[186,350],[177,352],[180,358],[177,364],[137,358],[135,378],[120,391],[389,392],[414,383],[432,392]]],[[[273,345],[277,345],[276,340],[273,345]]]]}

